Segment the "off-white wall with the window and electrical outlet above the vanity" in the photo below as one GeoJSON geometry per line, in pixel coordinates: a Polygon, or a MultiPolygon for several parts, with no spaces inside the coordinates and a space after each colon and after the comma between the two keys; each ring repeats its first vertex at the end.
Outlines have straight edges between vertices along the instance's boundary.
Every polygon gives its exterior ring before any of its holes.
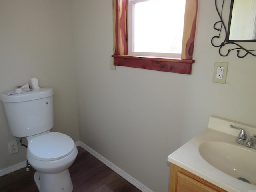
{"type": "Polygon", "coordinates": [[[154,192],[168,190],[167,156],[210,115],[256,125],[256,58],[210,44],[214,0],[199,0],[191,75],[110,70],[112,0],[73,0],[72,13],[80,140],[154,192]],[[212,83],[215,61],[229,62],[226,84],[212,83]]]}

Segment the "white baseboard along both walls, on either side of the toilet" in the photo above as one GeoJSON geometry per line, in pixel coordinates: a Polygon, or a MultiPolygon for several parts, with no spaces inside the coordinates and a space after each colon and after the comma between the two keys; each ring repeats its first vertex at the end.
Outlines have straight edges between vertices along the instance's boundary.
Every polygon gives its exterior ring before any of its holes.
{"type": "MultiPolygon", "coordinates": [[[[96,157],[98,160],[100,160],[102,163],[104,163],[106,166],[108,166],[114,172],[116,172],[117,174],[122,176],[125,180],[127,180],[128,182],[130,182],[131,184],[136,186],[142,192],[153,192],[152,190],[150,190],[149,188],[144,186],[142,183],[138,182],[138,180],[134,179],[132,176],[130,176],[129,174],[124,172],[118,166],[114,165],[112,162],[110,162],[109,160],[107,160],[106,158],[104,158],[103,156],[98,154],[96,151],[94,151],[92,148],[90,148],[86,144],[84,144],[80,141],[75,142],[75,144],[76,144],[76,146],[81,146],[82,148],[84,148],[84,150],[88,151],[90,154],[92,154],[94,157],[96,157]]],[[[23,161],[23,162],[20,162],[16,165],[10,166],[10,167],[5,168],[5,169],[2,169],[2,170],[0,170],[0,177],[6,175],[8,173],[14,172],[16,170],[19,170],[21,168],[24,168],[26,166],[27,166],[27,162],[23,161]]]]}

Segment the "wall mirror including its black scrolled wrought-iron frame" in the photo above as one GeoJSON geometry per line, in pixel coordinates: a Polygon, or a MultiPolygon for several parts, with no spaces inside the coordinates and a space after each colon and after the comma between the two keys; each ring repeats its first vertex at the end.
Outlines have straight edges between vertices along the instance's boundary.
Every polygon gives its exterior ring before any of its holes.
{"type": "Polygon", "coordinates": [[[215,0],[215,8],[220,20],[213,26],[218,35],[212,38],[212,46],[219,48],[223,57],[232,50],[236,50],[239,58],[256,56],[256,0],[231,0],[231,4],[230,0],[215,0]]]}

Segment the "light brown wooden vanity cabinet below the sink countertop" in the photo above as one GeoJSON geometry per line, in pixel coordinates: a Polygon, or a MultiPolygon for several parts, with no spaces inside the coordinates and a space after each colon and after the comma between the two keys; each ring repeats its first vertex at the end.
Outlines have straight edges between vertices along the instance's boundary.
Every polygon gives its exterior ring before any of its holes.
{"type": "Polygon", "coordinates": [[[171,163],[169,192],[227,192],[171,163]]]}

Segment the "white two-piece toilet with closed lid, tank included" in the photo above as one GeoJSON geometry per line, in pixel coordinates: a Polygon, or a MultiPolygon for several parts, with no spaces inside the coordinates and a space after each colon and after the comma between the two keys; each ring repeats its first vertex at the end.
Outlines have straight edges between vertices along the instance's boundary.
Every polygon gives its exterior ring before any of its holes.
{"type": "Polygon", "coordinates": [[[68,168],[78,154],[72,138],[50,132],[53,120],[53,89],[22,90],[0,94],[13,136],[26,137],[27,160],[36,170],[34,180],[40,192],[72,192],[68,168]]]}

